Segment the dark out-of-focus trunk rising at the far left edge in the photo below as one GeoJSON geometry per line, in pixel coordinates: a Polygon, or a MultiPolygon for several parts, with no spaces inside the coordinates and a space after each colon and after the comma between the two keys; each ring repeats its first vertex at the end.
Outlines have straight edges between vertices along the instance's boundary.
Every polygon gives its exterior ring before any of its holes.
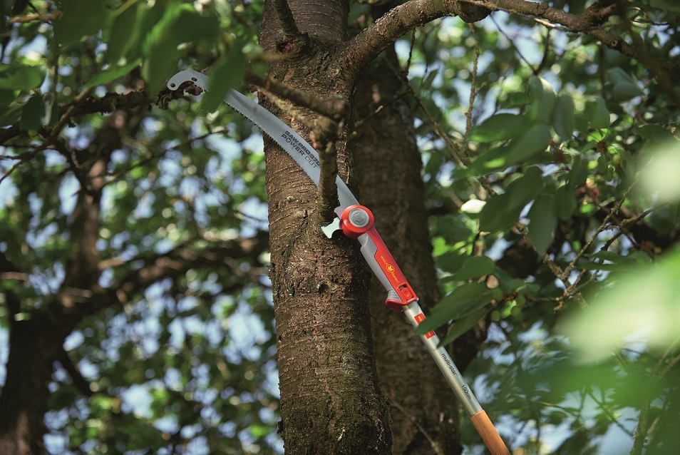
{"type": "Polygon", "coordinates": [[[6,297],[11,314],[7,379],[0,394],[0,454],[45,453],[44,415],[49,409],[48,385],[53,363],[62,353],[64,339],[82,317],[78,305],[97,284],[99,255],[96,240],[105,159],[119,144],[117,131],[105,126],[91,143],[91,149],[79,150],[81,163],[93,156],[100,159],[92,160],[88,168],[73,168],[73,172],[81,173],[81,189],[69,226],[71,256],[66,262],[57,295],[31,308],[26,312],[29,316],[26,319],[17,317],[22,315],[19,300],[11,295],[6,297]],[[109,135],[112,131],[114,136],[109,135]]]}

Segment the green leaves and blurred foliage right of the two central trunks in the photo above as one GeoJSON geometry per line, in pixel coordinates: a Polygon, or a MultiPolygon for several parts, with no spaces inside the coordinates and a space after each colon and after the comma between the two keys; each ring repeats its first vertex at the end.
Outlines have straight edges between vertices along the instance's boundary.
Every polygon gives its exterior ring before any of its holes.
{"type": "MultiPolygon", "coordinates": [[[[662,41],[649,52],[677,64],[674,27],[655,23],[669,11],[655,6],[639,11],[654,21],[634,21],[628,36],[662,41]]],[[[491,323],[482,359],[495,367],[479,360],[471,369],[477,389],[495,391],[484,399],[494,412],[524,422],[501,431],[512,446],[677,450],[666,430],[680,396],[670,281],[678,273],[670,246],[680,193],[670,174],[679,169],[679,118],[669,101],[677,91],[587,37],[566,41],[515,16],[439,27],[416,32],[402,53],[414,87],[432,84],[435,72],[455,75],[434,78],[458,91],[423,100],[420,131],[436,131],[435,122],[464,141],[423,140],[433,209],[458,205],[460,215],[433,220],[445,297],[419,332],[448,326],[448,343],[480,319],[491,323]],[[479,57],[446,58],[441,49],[458,43],[479,57]],[[466,111],[458,108],[465,100],[466,111]]]]}

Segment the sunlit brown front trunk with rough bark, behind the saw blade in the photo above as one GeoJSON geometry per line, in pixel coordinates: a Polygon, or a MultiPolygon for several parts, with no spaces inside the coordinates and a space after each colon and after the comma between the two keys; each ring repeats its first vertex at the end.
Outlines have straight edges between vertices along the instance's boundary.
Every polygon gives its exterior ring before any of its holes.
{"type": "MultiPolygon", "coordinates": [[[[330,46],[345,38],[348,2],[289,4],[311,46],[272,63],[272,74],[321,98],[348,98],[324,71],[330,46]]],[[[265,9],[261,36],[269,52],[282,41],[271,6],[265,9]]],[[[346,152],[339,144],[339,153],[346,152]]],[[[265,140],[265,153],[284,447],[289,454],[390,454],[364,261],[356,242],[323,237],[314,216],[316,188],[292,159],[271,140],[265,140]]]]}

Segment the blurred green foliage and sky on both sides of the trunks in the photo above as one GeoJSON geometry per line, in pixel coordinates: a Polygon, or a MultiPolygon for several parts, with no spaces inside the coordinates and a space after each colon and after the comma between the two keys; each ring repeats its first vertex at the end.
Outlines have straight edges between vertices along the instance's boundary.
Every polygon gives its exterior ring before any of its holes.
{"type": "MultiPolygon", "coordinates": [[[[375,19],[369,3],[352,3],[352,33],[375,19]]],[[[490,324],[466,376],[515,454],[680,449],[680,95],[659,78],[678,74],[680,9],[622,5],[602,27],[665,68],[504,12],[396,43],[445,296],[421,329],[447,326],[448,343],[490,324]]],[[[16,267],[0,302],[19,296],[30,319],[60,287],[81,160],[107,126],[121,133],[100,176],[98,286],[168,252],[205,257],[83,318],[53,374],[46,447],[281,451],[262,143],[219,108],[247,66],[266,69],[262,1],[0,1],[0,14],[0,252],[16,267]],[[163,85],[178,65],[220,85],[175,99],[163,85]]],[[[1,305],[1,364],[9,317],[1,305]]],[[[481,453],[470,441],[464,422],[481,453]]]]}

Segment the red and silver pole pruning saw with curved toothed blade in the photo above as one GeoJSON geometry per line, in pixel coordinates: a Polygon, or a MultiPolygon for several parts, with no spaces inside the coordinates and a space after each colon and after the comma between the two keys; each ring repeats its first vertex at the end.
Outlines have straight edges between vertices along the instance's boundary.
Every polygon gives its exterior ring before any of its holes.
{"type": "MultiPolygon", "coordinates": [[[[170,78],[168,88],[175,91],[180,86],[187,86],[187,83],[193,83],[206,91],[209,86],[209,78],[198,71],[180,71],[170,78]]],[[[309,175],[314,185],[319,185],[321,168],[319,155],[311,145],[306,143],[302,136],[299,136],[277,116],[242,93],[230,89],[224,101],[272,138],[309,175]]],[[[339,207],[335,209],[337,218],[334,218],[330,225],[321,229],[329,238],[336,230],[341,230],[347,237],[359,240],[361,254],[364,255],[366,262],[380,280],[381,285],[387,290],[386,305],[391,310],[403,312],[408,318],[408,322],[411,322],[414,328],[418,327],[425,320],[425,315],[418,305],[418,296],[411,285],[408,284],[403,272],[378,235],[378,231],[374,227],[373,213],[364,205],[359,204],[359,201],[356,200],[339,176],[336,177],[336,185],[340,200],[339,207]]],[[[453,389],[455,396],[458,397],[461,406],[470,416],[470,421],[472,421],[491,454],[510,455],[503,439],[500,438],[498,431],[475,398],[470,386],[465,382],[458,368],[455,367],[450,355],[443,347],[439,346],[439,338],[435,332],[430,331],[420,337],[444,375],[446,382],[453,389]]]]}

